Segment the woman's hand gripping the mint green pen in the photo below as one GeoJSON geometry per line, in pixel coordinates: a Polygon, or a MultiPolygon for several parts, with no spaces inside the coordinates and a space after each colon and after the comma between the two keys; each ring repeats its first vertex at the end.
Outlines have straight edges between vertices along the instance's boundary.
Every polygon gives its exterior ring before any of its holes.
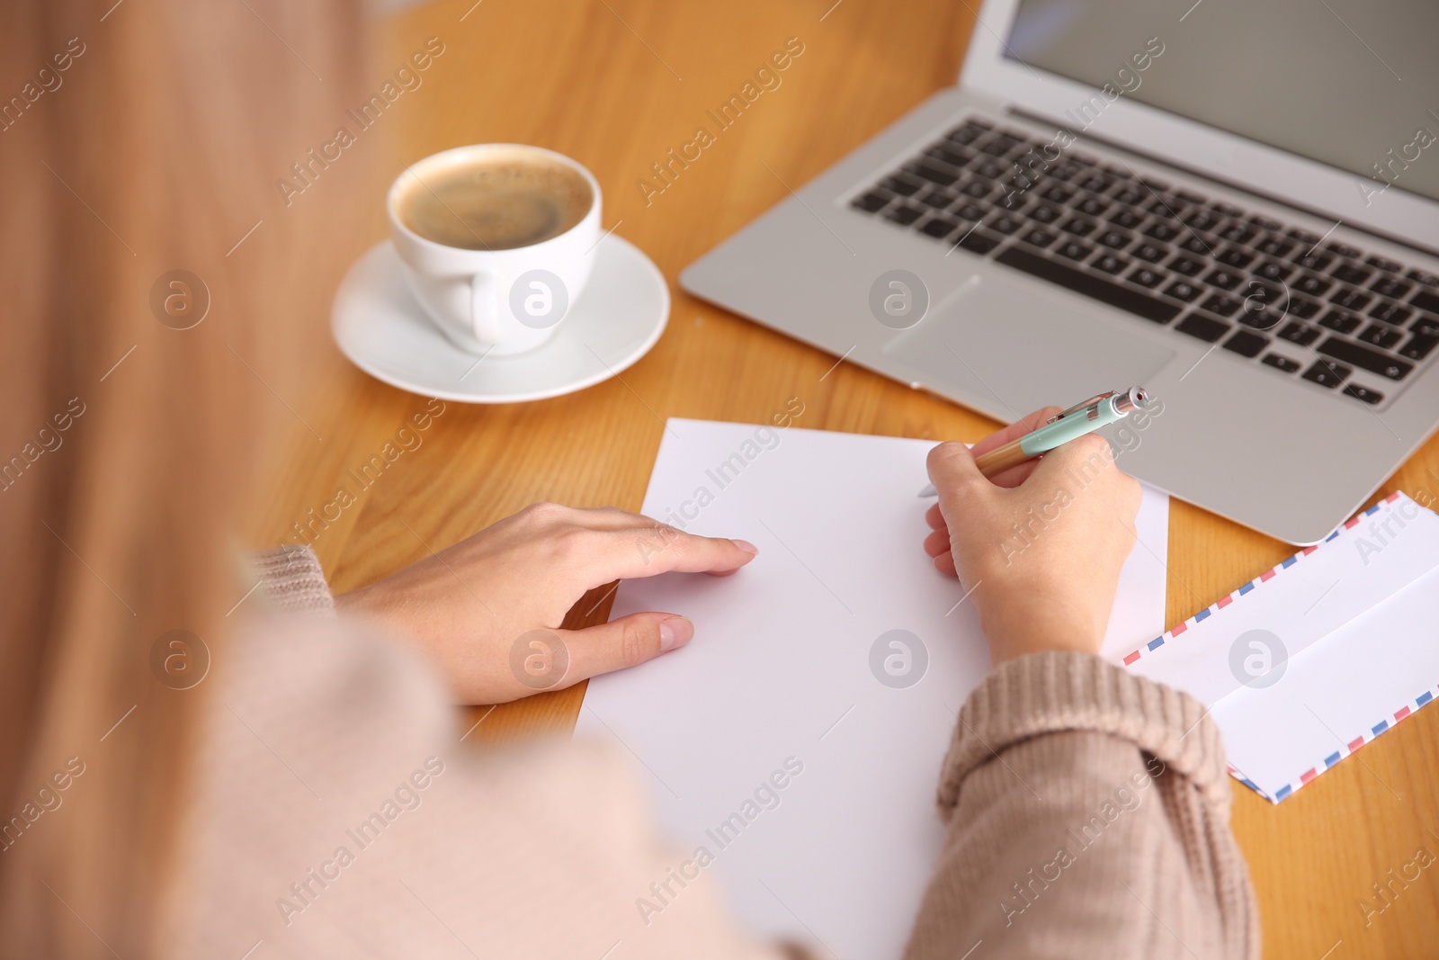
{"type": "Polygon", "coordinates": [[[1104,438],[1071,440],[993,481],[974,465],[1055,413],[1036,410],[973,450],[953,442],[930,450],[940,502],[925,517],[924,550],[970,592],[996,666],[1040,651],[1098,653],[1134,547],[1140,485],[1114,465],[1104,438]]]}

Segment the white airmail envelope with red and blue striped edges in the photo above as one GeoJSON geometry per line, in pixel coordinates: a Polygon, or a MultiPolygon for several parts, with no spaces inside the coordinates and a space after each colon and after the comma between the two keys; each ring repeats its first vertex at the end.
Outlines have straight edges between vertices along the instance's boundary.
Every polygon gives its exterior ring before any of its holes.
{"type": "Polygon", "coordinates": [[[1124,664],[1203,701],[1278,803],[1439,695],[1439,515],[1392,494],[1124,664]]]}

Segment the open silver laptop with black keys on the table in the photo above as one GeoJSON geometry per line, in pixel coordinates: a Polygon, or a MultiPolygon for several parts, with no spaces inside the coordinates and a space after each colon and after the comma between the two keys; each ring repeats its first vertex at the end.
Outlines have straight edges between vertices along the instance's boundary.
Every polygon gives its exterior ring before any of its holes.
{"type": "Polygon", "coordinates": [[[1125,471],[1318,543],[1439,425],[1436,36],[1423,0],[989,0],[957,86],[681,285],[1004,422],[1141,384],[1125,471]]]}

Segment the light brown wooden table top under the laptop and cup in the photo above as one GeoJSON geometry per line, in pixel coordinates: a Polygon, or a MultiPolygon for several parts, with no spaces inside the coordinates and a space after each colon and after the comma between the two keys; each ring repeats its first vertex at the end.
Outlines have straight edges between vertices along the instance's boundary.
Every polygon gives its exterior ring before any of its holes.
{"type": "MultiPolygon", "coordinates": [[[[682,294],[679,271],[750,219],[950,85],[974,26],[968,3],[778,0],[446,0],[378,24],[378,66],[437,36],[426,85],[386,117],[380,171],[469,142],[532,142],[587,164],[604,226],[646,250],[673,294],[669,328],[620,377],[583,393],[492,407],[449,404],[384,481],[315,543],[337,590],[360,586],[540,499],[637,510],[662,417],[763,423],[786,399],[800,426],[974,440],[996,423],[885,380],[682,294]],[[803,55],[743,119],[659,196],[636,181],[705,124],[787,37],[803,55]],[[403,524],[400,521],[404,521],[403,524]],[[406,528],[413,528],[413,534],[406,528]]],[[[983,29],[983,27],[980,27],[983,29]]],[[[377,78],[378,79],[378,78],[377,78]]],[[[384,236],[376,184],[373,239],[384,236]]],[[[258,535],[330,499],[341,474],[390,439],[425,400],[371,380],[332,347],[317,360],[304,419],[279,458],[258,535]]],[[[1068,400],[1056,397],[1058,402],[1068,400]]],[[[1430,440],[1384,492],[1439,491],[1430,440]]],[[[1173,502],[1168,622],[1177,623],[1291,548],[1173,502]]],[[[581,607],[587,607],[583,604],[581,607]]],[[[578,607],[577,607],[578,609],[578,607]]],[[[607,602],[590,617],[607,616],[607,602]]],[[[567,625],[574,626],[573,619],[567,625]]],[[[471,740],[568,730],[584,685],[476,708],[471,740]]],[[[1439,710],[1423,710],[1275,807],[1235,784],[1235,830],[1259,891],[1272,957],[1435,956],[1439,866],[1366,928],[1358,905],[1423,846],[1439,855],[1439,710]],[[1325,953],[1331,951],[1331,953],[1325,953]]]]}

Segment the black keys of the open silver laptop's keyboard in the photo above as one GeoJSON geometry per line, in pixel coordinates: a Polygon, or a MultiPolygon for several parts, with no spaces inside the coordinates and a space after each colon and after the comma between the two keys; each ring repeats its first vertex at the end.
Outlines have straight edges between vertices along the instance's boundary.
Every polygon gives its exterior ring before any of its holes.
{"type": "Polygon", "coordinates": [[[1056,153],[968,119],[850,206],[1366,404],[1439,347],[1439,276],[1056,153]]]}

